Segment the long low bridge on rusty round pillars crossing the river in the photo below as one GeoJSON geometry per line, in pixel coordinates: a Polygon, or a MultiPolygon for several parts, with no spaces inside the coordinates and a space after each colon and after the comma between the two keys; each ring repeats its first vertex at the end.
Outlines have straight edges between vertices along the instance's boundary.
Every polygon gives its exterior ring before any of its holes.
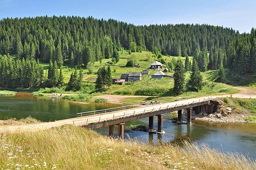
{"type": "Polygon", "coordinates": [[[218,110],[219,102],[213,101],[211,97],[196,96],[179,97],[161,101],[115,107],[110,109],[87,111],[78,113],[77,118],[59,120],[70,122],[75,126],[83,126],[85,128],[96,129],[104,126],[109,126],[109,136],[114,136],[114,126],[118,125],[118,137],[123,138],[123,126],[125,122],[133,121],[149,117],[149,131],[153,132],[154,116],[158,117],[158,128],[156,133],[163,133],[163,114],[172,111],[178,111],[178,124],[182,123],[182,110],[187,109],[187,124],[191,124],[191,110],[195,113],[206,112],[213,113],[218,110]],[[183,100],[180,100],[183,99],[183,100]],[[179,101],[177,101],[179,100],[179,101]]]}

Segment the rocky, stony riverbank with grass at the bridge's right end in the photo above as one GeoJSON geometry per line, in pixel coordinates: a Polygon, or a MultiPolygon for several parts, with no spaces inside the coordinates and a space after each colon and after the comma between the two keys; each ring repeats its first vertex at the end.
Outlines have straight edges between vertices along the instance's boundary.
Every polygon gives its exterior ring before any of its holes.
{"type": "MultiPolygon", "coordinates": [[[[256,100],[255,99],[239,99],[239,98],[216,98],[220,102],[219,110],[216,113],[195,114],[192,111],[192,119],[220,122],[220,123],[256,123],[256,100]]],[[[187,112],[183,111],[182,118],[186,120],[187,112]]]]}

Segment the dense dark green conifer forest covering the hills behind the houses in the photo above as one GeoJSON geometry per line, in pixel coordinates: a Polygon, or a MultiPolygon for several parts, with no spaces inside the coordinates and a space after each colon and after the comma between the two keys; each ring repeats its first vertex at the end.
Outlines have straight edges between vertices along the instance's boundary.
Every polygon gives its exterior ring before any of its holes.
{"type": "MultiPolygon", "coordinates": [[[[254,28],[250,34],[240,34],[232,28],[207,24],[135,26],[92,16],[40,16],[0,21],[1,86],[40,86],[43,77],[50,79],[40,62],[52,63],[56,69],[64,63],[86,67],[122,50],[193,56],[200,71],[223,66],[239,75],[256,72],[254,28]],[[12,54],[17,54],[16,61],[11,61],[12,54]]],[[[44,86],[52,86],[54,81],[44,86]]]]}

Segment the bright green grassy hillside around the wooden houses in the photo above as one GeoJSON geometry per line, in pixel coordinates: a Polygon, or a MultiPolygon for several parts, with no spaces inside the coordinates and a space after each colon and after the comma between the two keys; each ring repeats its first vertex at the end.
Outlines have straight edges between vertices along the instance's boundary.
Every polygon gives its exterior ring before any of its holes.
{"type": "MultiPolygon", "coordinates": [[[[154,55],[151,55],[148,57],[149,52],[142,51],[135,52],[132,54],[128,54],[127,51],[123,51],[120,53],[120,61],[118,61],[116,64],[110,64],[111,70],[112,70],[112,78],[120,79],[121,74],[130,73],[130,72],[141,72],[144,69],[147,69],[152,62],[156,60],[156,57],[154,58],[154,55]],[[136,63],[140,64],[140,68],[137,67],[126,67],[126,63],[130,57],[133,57],[136,59],[136,63]]],[[[12,56],[15,58],[15,56],[12,56]]],[[[182,59],[183,62],[185,62],[184,57],[174,57],[174,56],[163,56],[163,58],[169,62],[169,61],[177,61],[178,59],[182,59]]],[[[192,57],[189,57],[190,60],[192,60],[192,57]]],[[[128,83],[125,85],[112,85],[110,89],[107,89],[103,92],[96,92],[94,89],[94,82],[97,78],[97,68],[104,63],[107,63],[111,59],[103,59],[102,62],[95,62],[94,63],[94,73],[85,75],[83,77],[83,84],[85,85],[85,88],[82,89],[80,92],[90,93],[91,95],[95,96],[98,94],[117,94],[117,95],[138,95],[138,96],[177,96],[173,92],[173,84],[174,81],[172,78],[165,77],[162,80],[158,79],[151,79],[151,75],[154,74],[155,70],[150,70],[150,75],[144,75],[142,81],[137,81],[136,83],[128,83]]],[[[48,64],[42,63],[43,68],[45,71],[48,70],[48,64]]],[[[64,63],[62,67],[63,76],[64,76],[64,82],[68,83],[71,72],[74,71],[74,68],[81,69],[83,74],[87,74],[88,70],[85,66],[70,66],[67,63],[64,63]]],[[[164,67],[163,67],[164,69],[164,67]]],[[[163,71],[162,69],[162,71],[163,71]]],[[[173,74],[172,72],[169,72],[167,74],[173,74]]],[[[223,84],[221,82],[215,82],[217,80],[218,75],[217,71],[206,71],[203,72],[203,89],[201,89],[198,92],[195,91],[185,91],[183,94],[179,96],[189,96],[189,95],[197,95],[197,96],[205,96],[205,95],[217,95],[217,94],[231,94],[238,92],[237,89],[234,89],[233,87],[223,84]],[[213,79],[213,84],[212,84],[213,79]],[[213,85],[213,89],[211,90],[213,85]]],[[[189,79],[189,72],[185,74],[186,81],[189,79]]],[[[50,90],[41,90],[42,93],[51,93],[51,91],[55,92],[64,92],[61,89],[50,89],[50,90]]],[[[72,93],[72,92],[69,92],[72,93]]],[[[79,92],[76,92],[79,93],[79,92]]]]}

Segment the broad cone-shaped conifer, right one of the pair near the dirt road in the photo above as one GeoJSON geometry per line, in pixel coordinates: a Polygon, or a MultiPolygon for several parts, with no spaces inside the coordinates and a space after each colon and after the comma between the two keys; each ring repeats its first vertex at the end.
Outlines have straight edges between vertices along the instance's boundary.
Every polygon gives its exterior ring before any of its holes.
{"type": "Polygon", "coordinates": [[[197,62],[195,61],[195,59],[193,59],[190,79],[188,81],[189,89],[192,91],[198,91],[202,89],[202,81],[203,81],[203,76],[198,68],[197,62]]]}

